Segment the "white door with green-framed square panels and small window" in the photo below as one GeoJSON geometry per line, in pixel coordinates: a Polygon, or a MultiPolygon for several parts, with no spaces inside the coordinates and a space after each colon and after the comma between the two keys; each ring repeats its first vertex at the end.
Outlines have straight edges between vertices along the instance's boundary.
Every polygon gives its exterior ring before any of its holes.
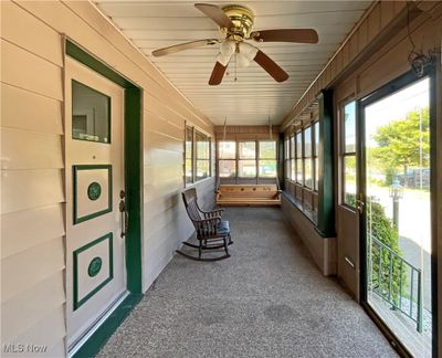
{"type": "Polygon", "coordinates": [[[66,310],[72,350],[126,293],[124,90],[65,65],[66,310]],[[124,193],[124,191],[123,191],[124,193]]]}

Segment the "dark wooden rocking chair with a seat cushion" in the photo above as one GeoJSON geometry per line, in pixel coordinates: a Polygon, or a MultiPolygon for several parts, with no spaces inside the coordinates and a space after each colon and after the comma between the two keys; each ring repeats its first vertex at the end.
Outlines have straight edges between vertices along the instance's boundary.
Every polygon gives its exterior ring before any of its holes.
{"type": "Polygon", "coordinates": [[[186,206],[187,213],[193,223],[197,232],[197,244],[182,242],[183,245],[198,249],[198,257],[192,256],[183,251],[177,250],[177,253],[196,261],[219,261],[230,257],[228,246],[232,244],[230,236],[229,221],[221,221],[221,214],[224,209],[213,211],[203,211],[198,206],[197,190],[194,188],[182,192],[182,200],[186,206]],[[225,254],[218,257],[201,257],[203,251],[223,249],[225,254]]]}

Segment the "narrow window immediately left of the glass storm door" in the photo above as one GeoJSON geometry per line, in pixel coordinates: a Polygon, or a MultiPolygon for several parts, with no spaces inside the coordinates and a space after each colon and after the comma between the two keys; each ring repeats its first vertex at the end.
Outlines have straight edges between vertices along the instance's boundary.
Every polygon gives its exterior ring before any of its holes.
{"type": "Polygon", "coordinates": [[[356,196],[356,103],[344,106],[343,126],[343,201],[355,207],[356,196]]]}

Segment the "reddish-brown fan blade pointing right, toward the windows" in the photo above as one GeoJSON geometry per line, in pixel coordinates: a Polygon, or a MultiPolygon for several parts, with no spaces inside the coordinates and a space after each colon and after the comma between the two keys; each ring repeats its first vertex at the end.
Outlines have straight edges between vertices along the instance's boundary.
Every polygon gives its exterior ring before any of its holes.
{"type": "Polygon", "coordinates": [[[318,35],[313,29],[278,29],[253,31],[250,35],[261,42],[317,43],[318,35]]]}

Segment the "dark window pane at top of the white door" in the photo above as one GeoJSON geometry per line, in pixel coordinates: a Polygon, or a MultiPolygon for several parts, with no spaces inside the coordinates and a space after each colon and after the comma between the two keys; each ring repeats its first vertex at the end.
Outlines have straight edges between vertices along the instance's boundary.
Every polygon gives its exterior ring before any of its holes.
{"type": "Polygon", "coordinates": [[[110,97],[72,81],[72,138],[110,143],[110,97]]]}

